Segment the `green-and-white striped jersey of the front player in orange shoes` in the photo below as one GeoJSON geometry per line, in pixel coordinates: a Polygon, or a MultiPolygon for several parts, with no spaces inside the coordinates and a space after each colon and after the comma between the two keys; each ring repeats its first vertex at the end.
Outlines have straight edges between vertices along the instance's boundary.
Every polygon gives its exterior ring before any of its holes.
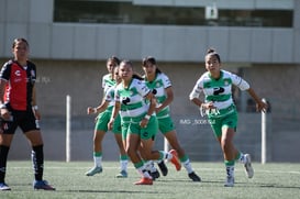
{"type": "Polygon", "coordinates": [[[114,100],[121,102],[120,115],[134,119],[146,114],[149,106],[146,103],[145,97],[149,92],[151,89],[146,84],[135,78],[132,79],[129,88],[119,84],[115,88],[114,100]]]}

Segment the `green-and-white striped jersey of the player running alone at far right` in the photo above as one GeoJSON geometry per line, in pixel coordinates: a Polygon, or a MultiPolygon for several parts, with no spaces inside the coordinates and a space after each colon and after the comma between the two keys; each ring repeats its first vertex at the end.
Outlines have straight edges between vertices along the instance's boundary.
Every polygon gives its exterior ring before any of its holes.
{"type": "Polygon", "coordinates": [[[204,73],[193,87],[190,99],[199,98],[203,92],[205,102],[213,102],[216,109],[226,109],[234,104],[232,99],[232,85],[237,86],[241,90],[247,90],[249,85],[240,76],[226,70],[221,70],[221,77],[213,79],[210,73],[204,73]]]}

